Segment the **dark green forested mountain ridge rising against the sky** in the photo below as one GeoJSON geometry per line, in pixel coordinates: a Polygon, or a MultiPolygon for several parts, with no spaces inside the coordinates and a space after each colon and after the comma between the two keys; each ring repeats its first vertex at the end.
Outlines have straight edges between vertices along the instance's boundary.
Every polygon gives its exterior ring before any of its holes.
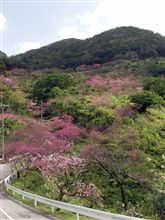
{"type": "Polygon", "coordinates": [[[65,39],[10,57],[12,66],[68,68],[116,59],[165,56],[165,37],[136,27],[119,27],[85,40],[65,39]]]}

